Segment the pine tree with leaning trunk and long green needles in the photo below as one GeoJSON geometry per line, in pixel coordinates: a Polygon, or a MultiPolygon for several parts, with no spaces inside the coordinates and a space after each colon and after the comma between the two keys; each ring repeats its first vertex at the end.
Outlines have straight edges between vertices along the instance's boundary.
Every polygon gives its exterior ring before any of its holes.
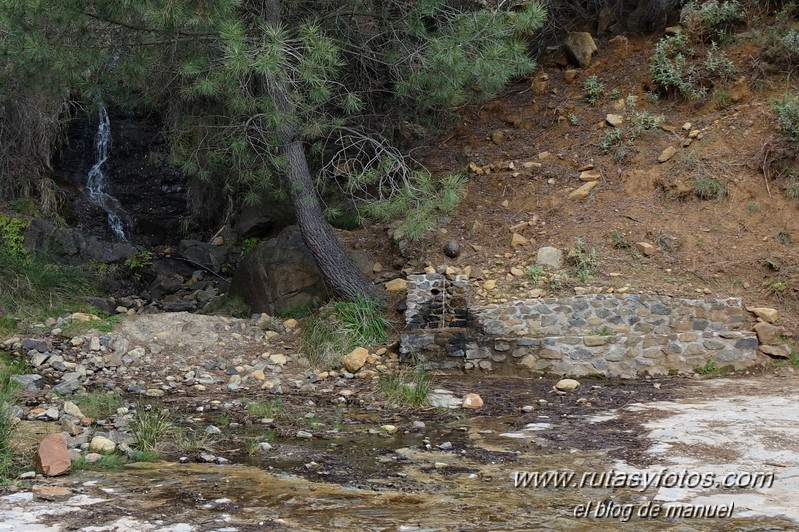
{"type": "Polygon", "coordinates": [[[334,292],[380,297],[318,187],[422,232],[431,200],[451,209],[463,180],[432,186],[391,139],[531,71],[525,38],[543,18],[536,3],[470,0],[9,0],[0,52],[7,95],[164,111],[184,171],[248,202],[282,191],[334,292]]]}

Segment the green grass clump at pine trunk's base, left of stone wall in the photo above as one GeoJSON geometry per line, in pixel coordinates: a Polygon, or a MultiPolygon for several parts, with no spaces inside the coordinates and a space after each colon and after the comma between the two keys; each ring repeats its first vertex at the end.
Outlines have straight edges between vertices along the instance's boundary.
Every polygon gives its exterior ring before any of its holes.
{"type": "Polygon", "coordinates": [[[322,308],[303,328],[303,351],[320,368],[337,364],[356,347],[388,341],[390,322],[371,299],[336,301],[322,308]]]}

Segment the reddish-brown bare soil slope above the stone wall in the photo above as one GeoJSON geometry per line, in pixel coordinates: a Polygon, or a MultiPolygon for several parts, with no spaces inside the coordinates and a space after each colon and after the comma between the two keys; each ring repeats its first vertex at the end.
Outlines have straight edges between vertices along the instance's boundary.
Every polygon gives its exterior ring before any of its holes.
{"type": "MultiPolygon", "coordinates": [[[[465,199],[437,231],[415,244],[413,259],[419,264],[478,266],[486,278],[498,281],[495,297],[524,296],[532,285],[523,278],[511,279],[510,268],[526,268],[541,246],[569,250],[581,237],[596,248],[598,273],[586,283],[572,278],[564,293],[580,285],[740,296],[747,305],[780,309],[780,321],[795,328],[799,201],[787,198],[784,187],[788,171],[799,173],[799,162],[771,166],[768,179],[761,162],[764,145],[776,132],[770,99],[796,91],[797,82],[763,78],[757,45],[741,39],[724,47],[735,62],[735,79],[711,88],[711,95],[729,95],[728,106],[720,106],[713,96],[703,105],[673,96],[652,103],[646,93],[651,90],[648,64],[656,39],[599,40],[590,67],[578,70],[571,82],[564,79],[561,66],[544,58],[531,76],[537,80],[542,73],[548,75],[543,94],[534,94],[528,80],[493,101],[462,109],[462,122],[430,141],[426,164],[437,174],[462,171],[469,163],[493,169],[484,175],[469,172],[465,199]],[[583,100],[583,84],[591,75],[605,86],[605,96],[593,106],[583,100]],[[617,100],[611,99],[611,92],[618,94],[617,100]],[[637,98],[637,110],[663,115],[666,127],[625,142],[624,157],[617,160],[613,150],[603,154],[600,144],[610,129],[605,116],[621,114],[614,104],[628,95],[637,98]],[[686,122],[703,136],[682,147],[686,122]],[[677,154],[659,164],[658,155],[668,146],[677,148],[677,154]],[[542,152],[550,157],[539,160],[542,152]],[[525,169],[528,161],[542,166],[525,169]],[[508,169],[509,162],[515,169],[508,169]],[[578,169],[589,163],[601,171],[599,185],[585,200],[568,199],[569,192],[583,184],[578,169]],[[697,197],[693,183],[703,177],[726,183],[726,198],[697,197]],[[529,244],[512,249],[509,228],[534,216],[538,223],[520,231],[529,244]],[[634,247],[619,249],[613,245],[614,232],[630,244],[646,241],[659,251],[643,257],[634,247]],[[443,253],[449,240],[465,244],[457,259],[443,253]]],[[[360,240],[357,247],[372,252],[375,259],[382,256],[390,267],[385,229],[375,226],[351,236],[360,240]]]]}

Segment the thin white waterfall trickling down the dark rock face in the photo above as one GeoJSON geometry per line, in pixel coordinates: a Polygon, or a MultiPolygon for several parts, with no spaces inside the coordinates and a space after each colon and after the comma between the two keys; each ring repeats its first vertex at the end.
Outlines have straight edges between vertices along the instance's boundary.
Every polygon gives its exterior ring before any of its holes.
{"type": "Polygon", "coordinates": [[[111,231],[120,239],[127,241],[125,226],[128,217],[122,209],[122,204],[118,199],[111,196],[106,188],[108,177],[103,172],[103,165],[108,160],[111,150],[111,119],[108,117],[108,110],[105,106],[100,106],[100,124],[97,126],[97,135],[94,137],[94,166],[87,175],[86,190],[92,203],[103,209],[108,217],[108,225],[111,231]]]}

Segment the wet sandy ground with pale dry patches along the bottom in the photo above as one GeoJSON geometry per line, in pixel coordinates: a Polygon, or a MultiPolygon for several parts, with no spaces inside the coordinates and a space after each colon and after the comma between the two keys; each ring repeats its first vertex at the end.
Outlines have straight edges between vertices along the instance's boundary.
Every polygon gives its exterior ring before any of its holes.
{"type": "Polygon", "coordinates": [[[799,379],[793,375],[586,381],[570,396],[545,393],[539,384],[441,379],[437,386],[480,393],[490,415],[430,422],[424,434],[280,440],[279,456],[254,465],[163,462],[53,479],[72,489],[69,501],[4,496],[0,531],[799,527],[793,503],[799,495],[799,409],[792,407],[799,379]],[[522,413],[526,404],[534,411],[522,413]],[[438,449],[445,439],[451,450],[438,449]],[[310,460],[319,467],[302,465],[310,460]],[[600,487],[596,479],[602,477],[595,476],[594,486],[514,487],[514,472],[550,470],[574,471],[577,478],[608,471],[660,475],[663,485],[644,489],[630,476],[600,487]],[[664,482],[674,478],[664,470],[682,473],[682,485],[664,482]],[[773,483],[689,486],[698,475],[718,480],[739,472],[773,473],[773,483]],[[664,515],[669,505],[724,513],[733,504],[731,518],[664,515]],[[655,507],[661,515],[643,517],[655,507]]]}

